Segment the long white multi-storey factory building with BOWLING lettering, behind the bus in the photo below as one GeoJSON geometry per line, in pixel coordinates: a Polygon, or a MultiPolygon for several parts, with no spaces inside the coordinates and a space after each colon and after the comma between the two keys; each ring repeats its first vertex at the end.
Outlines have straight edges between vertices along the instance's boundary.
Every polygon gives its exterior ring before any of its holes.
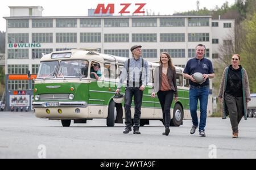
{"type": "Polygon", "coordinates": [[[159,62],[166,51],[176,66],[184,67],[195,57],[197,44],[207,47],[209,59],[218,58],[219,45],[234,44],[234,20],[211,16],[42,16],[40,6],[10,11],[5,17],[6,96],[13,99],[6,99],[7,109],[18,100],[31,105],[33,82],[26,74],[30,70],[36,77],[43,54],[98,48],[101,53],[131,57],[130,47],[139,44],[148,61],[159,62]]]}

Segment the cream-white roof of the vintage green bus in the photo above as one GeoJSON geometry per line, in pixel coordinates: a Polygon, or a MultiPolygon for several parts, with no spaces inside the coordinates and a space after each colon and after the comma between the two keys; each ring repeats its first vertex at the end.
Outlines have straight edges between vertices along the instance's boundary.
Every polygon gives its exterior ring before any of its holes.
{"type": "MultiPolygon", "coordinates": [[[[110,54],[102,54],[99,52],[96,52],[96,50],[92,49],[72,49],[72,50],[64,50],[64,51],[59,51],[59,52],[52,52],[51,54],[46,54],[44,55],[40,61],[59,61],[59,60],[68,60],[68,59],[88,59],[88,60],[94,60],[97,62],[115,62],[115,63],[120,63],[123,65],[126,61],[126,57],[118,57],[118,56],[113,56],[110,54]],[[68,54],[71,53],[69,57],[57,57],[57,58],[52,58],[53,54],[68,54]]],[[[159,63],[155,62],[148,62],[150,67],[158,67],[159,63]]],[[[176,66],[175,66],[176,67],[176,66]]],[[[182,73],[183,72],[182,67],[176,67],[176,72],[177,73],[182,73]]]]}

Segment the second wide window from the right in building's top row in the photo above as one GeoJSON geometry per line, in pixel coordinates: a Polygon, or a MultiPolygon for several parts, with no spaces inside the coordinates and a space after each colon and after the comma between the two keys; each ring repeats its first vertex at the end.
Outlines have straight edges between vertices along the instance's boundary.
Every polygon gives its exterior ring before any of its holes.
{"type": "Polygon", "coordinates": [[[185,18],[160,18],[160,27],[185,27],[185,18]]]}

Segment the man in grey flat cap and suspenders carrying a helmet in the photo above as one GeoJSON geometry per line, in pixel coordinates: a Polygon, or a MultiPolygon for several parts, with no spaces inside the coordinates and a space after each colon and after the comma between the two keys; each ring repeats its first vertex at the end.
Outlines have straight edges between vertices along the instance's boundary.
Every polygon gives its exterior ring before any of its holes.
{"type": "Polygon", "coordinates": [[[124,134],[127,134],[131,131],[131,126],[133,123],[131,121],[131,102],[134,96],[134,126],[133,133],[141,134],[139,131],[140,121],[141,121],[141,105],[143,91],[149,82],[148,74],[148,63],[142,56],[142,46],[134,45],[131,47],[131,58],[125,61],[123,66],[122,74],[120,75],[117,91],[119,93],[121,90],[123,82],[126,80],[126,90],[125,90],[125,130],[124,134]]]}

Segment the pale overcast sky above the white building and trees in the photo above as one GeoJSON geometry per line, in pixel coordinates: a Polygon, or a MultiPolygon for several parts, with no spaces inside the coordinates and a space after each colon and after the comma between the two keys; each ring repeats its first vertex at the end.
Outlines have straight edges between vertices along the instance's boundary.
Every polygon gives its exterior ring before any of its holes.
{"type": "MultiPolygon", "coordinates": [[[[4,16],[10,16],[9,6],[42,6],[44,8],[43,16],[87,16],[88,8],[96,8],[98,3],[115,4],[115,15],[121,10],[120,3],[132,3],[127,9],[133,12],[137,6],[135,3],[146,3],[144,10],[154,11],[155,15],[172,15],[175,12],[196,10],[197,0],[53,0],[53,1],[35,1],[35,0],[11,0],[1,1],[0,6],[0,31],[6,31],[6,22],[4,16]]],[[[216,6],[221,7],[226,1],[229,5],[234,4],[235,0],[199,0],[200,8],[207,7],[213,9],[216,6]]]]}

